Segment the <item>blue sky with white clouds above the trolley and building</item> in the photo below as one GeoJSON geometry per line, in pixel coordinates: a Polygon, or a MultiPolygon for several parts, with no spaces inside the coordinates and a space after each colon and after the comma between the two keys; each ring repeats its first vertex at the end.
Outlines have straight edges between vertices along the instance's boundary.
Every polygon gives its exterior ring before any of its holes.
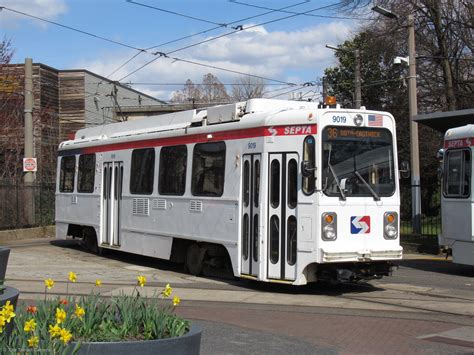
{"type": "Polygon", "coordinates": [[[87,69],[111,80],[131,83],[133,88],[162,100],[169,100],[187,79],[200,83],[203,75],[212,73],[222,83],[232,84],[241,75],[236,72],[265,78],[266,97],[281,94],[276,98],[287,99],[294,93],[318,99],[320,87],[302,85],[320,82],[324,69],[337,64],[333,50],[325,45],[341,44],[367,22],[360,15],[358,19],[333,18],[351,17],[330,6],[337,2],[0,0],[0,6],[5,7],[0,11],[0,39],[11,39],[15,49],[13,63],[23,63],[29,57],[35,63],[57,69],[87,69]],[[287,7],[284,11],[330,17],[271,12],[255,6],[287,7]],[[238,26],[244,30],[239,31],[238,26]],[[178,40],[183,37],[187,38],[178,40]]]}

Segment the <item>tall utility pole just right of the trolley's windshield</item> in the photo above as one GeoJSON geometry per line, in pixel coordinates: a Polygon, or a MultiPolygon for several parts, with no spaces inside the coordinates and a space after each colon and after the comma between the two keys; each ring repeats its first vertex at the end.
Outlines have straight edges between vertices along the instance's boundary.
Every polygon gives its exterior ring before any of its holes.
{"type": "Polygon", "coordinates": [[[410,114],[410,158],[412,166],[411,198],[413,232],[421,234],[421,186],[418,124],[413,121],[413,118],[418,114],[416,98],[415,24],[413,15],[408,16],[408,58],[408,101],[410,114]]]}

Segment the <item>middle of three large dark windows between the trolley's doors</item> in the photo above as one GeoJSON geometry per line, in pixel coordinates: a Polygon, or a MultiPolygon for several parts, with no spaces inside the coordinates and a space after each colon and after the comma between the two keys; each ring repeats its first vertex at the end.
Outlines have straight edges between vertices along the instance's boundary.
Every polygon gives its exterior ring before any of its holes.
{"type": "Polygon", "coordinates": [[[188,148],[185,145],[161,148],[158,181],[161,195],[184,195],[187,159],[188,148]]]}

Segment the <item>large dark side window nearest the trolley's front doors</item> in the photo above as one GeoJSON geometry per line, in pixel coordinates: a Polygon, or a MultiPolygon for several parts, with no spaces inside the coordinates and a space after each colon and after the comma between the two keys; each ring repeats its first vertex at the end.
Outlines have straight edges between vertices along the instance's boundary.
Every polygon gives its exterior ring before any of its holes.
{"type": "Polygon", "coordinates": [[[225,175],[224,142],[194,146],[191,192],[194,196],[222,196],[225,175]]]}

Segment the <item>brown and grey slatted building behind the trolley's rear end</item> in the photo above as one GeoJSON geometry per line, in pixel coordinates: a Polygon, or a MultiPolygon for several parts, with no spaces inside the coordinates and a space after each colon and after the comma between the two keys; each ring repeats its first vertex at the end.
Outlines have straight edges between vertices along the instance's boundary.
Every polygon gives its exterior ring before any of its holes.
{"type": "MultiPolygon", "coordinates": [[[[0,180],[19,181],[24,156],[25,65],[0,65],[0,180]]],[[[54,181],[58,144],[80,128],[126,119],[121,108],[166,105],[84,69],[33,64],[36,180],[54,181]]]]}

